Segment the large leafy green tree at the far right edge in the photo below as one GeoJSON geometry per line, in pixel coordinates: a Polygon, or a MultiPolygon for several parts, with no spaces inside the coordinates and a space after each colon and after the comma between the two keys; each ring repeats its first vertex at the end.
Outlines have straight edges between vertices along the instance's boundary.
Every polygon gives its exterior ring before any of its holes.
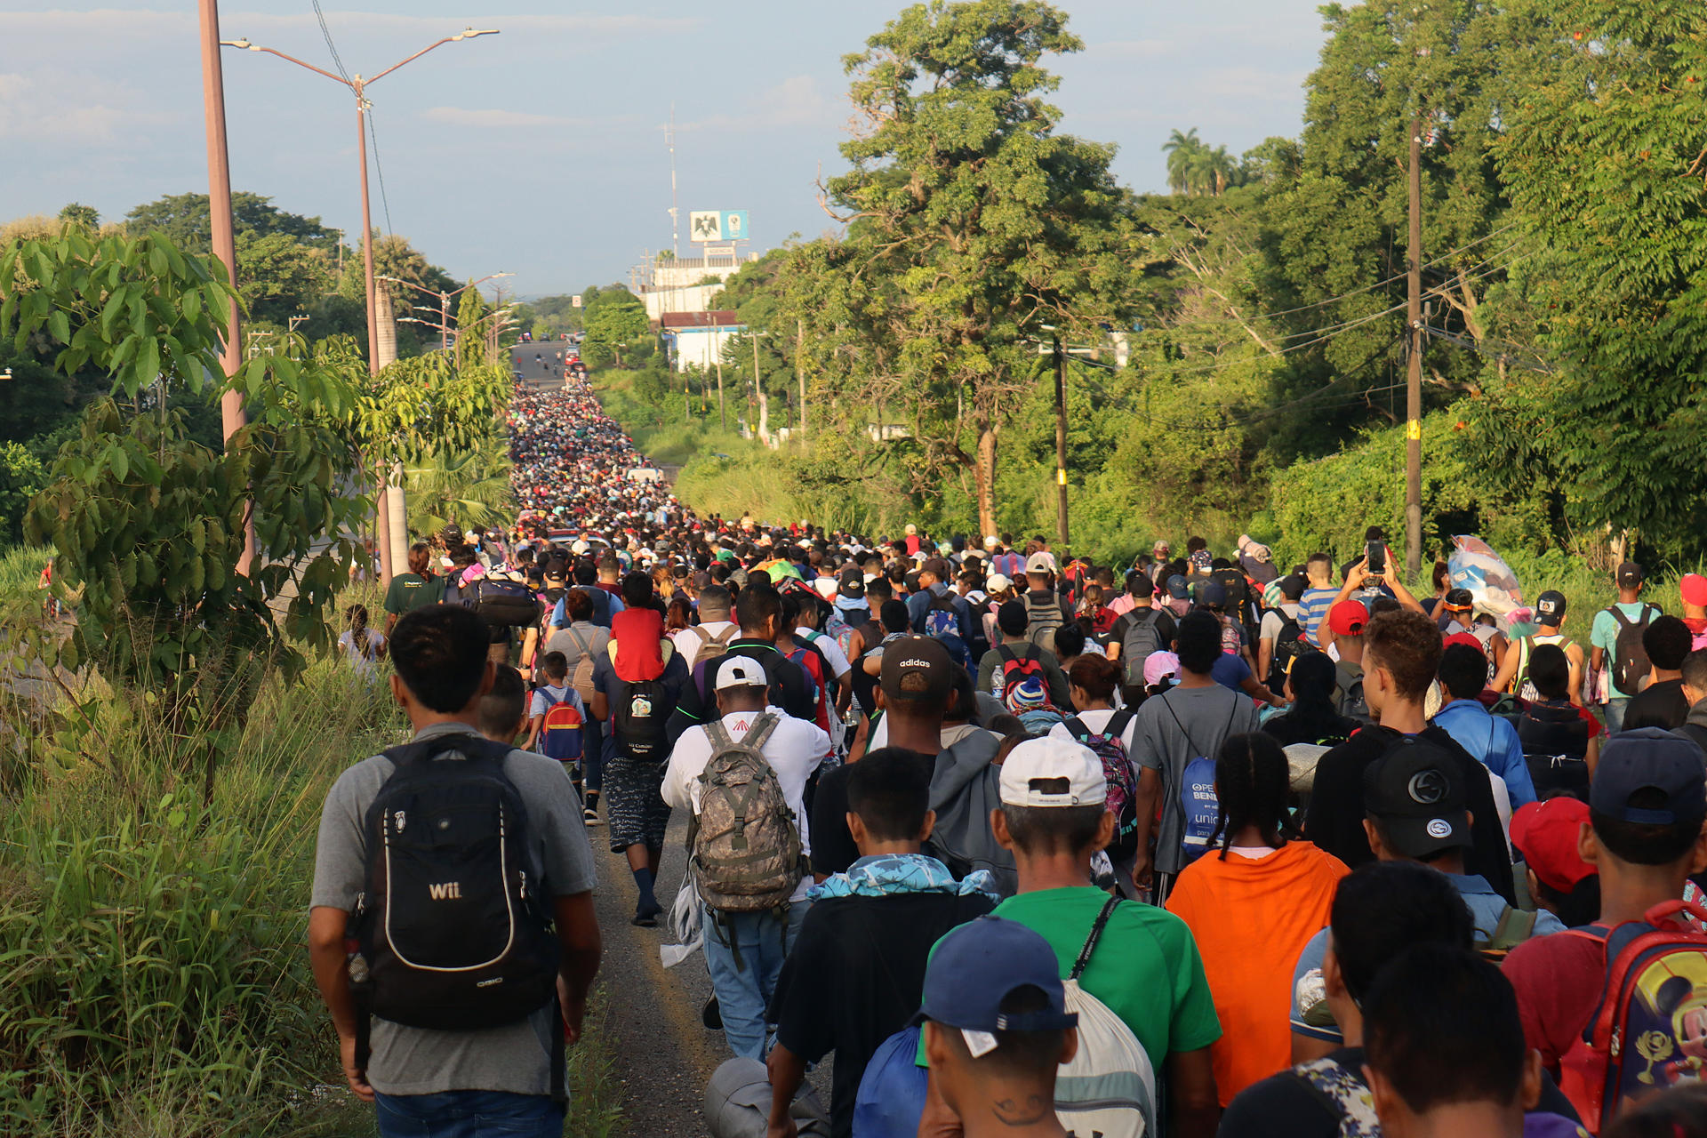
{"type": "Polygon", "coordinates": [[[1707,9],[1523,0],[1543,77],[1499,169],[1545,249],[1526,292],[1550,374],[1512,374],[1485,416],[1514,476],[1579,525],[1702,546],[1707,469],[1707,9]]]}

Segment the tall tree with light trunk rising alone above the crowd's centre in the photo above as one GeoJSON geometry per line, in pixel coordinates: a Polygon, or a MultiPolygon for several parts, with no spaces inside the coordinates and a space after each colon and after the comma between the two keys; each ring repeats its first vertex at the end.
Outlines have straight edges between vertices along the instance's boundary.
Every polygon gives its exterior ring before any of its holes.
{"type": "Polygon", "coordinates": [[[862,331],[905,377],[927,459],[973,473],[983,532],[1000,432],[1036,384],[1033,338],[1118,307],[1113,147],[1055,133],[1045,101],[1060,80],[1041,60],[1081,48],[1043,0],[930,0],[845,60],[859,125],[826,196],[848,222],[847,271],[884,280],[862,331]]]}

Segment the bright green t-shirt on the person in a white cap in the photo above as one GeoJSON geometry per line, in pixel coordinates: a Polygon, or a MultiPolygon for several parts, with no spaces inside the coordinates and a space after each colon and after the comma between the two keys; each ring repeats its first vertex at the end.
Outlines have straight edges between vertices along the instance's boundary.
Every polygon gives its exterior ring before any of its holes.
{"type": "MultiPolygon", "coordinates": [[[[1040,889],[1009,897],[993,916],[1040,932],[1055,949],[1065,979],[1106,901],[1108,894],[1094,885],[1040,889]]],[[[1156,1070],[1173,1051],[1197,1051],[1221,1039],[1203,957],[1191,930],[1168,909],[1121,903],[1079,984],[1125,1020],[1156,1070]]]]}

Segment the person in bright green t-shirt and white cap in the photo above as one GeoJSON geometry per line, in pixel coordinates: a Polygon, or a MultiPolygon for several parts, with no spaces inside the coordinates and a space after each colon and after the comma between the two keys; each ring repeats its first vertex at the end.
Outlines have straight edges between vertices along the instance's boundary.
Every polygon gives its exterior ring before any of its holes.
{"type": "MultiPolygon", "coordinates": [[[[1004,763],[1002,807],[990,814],[995,839],[1014,851],[1019,868],[1019,894],[999,904],[995,916],[1041,933],[1063,978],[1108,903],[1089,884],[1091,855],[1113,836],[1106,793],[1101,759],[1087,747],[1036,739],[1014,747],[1004,763]]],[[[1209,1046],[1221,1039],[1221,1022],[1185,921],[1121,903],[1079,983],[1132,1029],[1157,1071],[1168,1065],[1168,1133],[1214,1135],[1221,1111],[1209,1046]]]]}

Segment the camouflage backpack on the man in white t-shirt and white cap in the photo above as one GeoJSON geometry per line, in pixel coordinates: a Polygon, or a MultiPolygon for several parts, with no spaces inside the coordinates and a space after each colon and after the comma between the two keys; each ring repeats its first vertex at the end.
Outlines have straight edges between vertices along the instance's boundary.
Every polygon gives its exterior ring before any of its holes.
{"type": "Polygon", "coordinates": [[[778,909],[806,874],[799,821],[763,752],[775,730],[775,715],[754,718],[739,742],[722,720],[705,725],[712,758],[688,826],[688,872],[719,913],[778,909]]]}

